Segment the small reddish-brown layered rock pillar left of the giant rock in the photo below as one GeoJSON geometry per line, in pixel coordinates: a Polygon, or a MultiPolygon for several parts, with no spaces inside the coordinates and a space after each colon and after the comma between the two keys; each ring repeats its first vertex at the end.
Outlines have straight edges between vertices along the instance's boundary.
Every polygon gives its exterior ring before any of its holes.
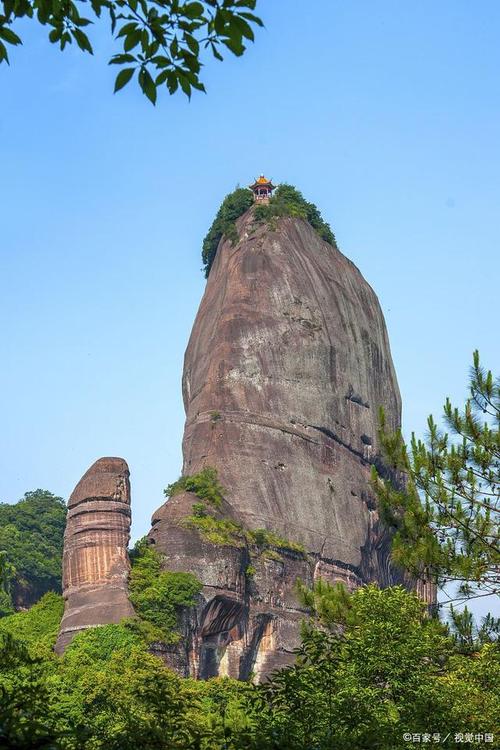
{"type": "Polygon", "coordinates": [[[132,617],[129,470],[121,458],[101,458],[76,485],[64,534],[64,616],[56,644],[62,653],[80,630],[132,617]]]}

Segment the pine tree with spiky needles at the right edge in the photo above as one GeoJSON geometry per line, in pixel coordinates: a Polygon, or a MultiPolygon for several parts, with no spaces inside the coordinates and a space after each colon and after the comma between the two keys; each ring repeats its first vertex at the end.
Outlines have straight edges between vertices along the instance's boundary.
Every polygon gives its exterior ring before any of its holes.
{"type": "Polygon", "coordinates": [[[373,470],[385,521],[395,529],[393,556],[413,576],[458,584],[459,599],[500,594],[500,380],[474,352],[463,410],[444,405],[448,432],[432,416],[425,441],[380,436],[390,478],[373,470]]]}

